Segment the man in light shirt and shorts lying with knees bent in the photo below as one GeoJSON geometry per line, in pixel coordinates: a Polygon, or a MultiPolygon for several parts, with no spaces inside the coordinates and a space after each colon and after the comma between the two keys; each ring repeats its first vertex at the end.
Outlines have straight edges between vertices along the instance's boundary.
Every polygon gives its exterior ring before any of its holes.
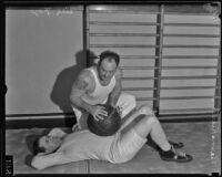
{"type": "Polygon", "coordinates": [[[34,142],[36,156],[31,165],[37,169],[43,169],[84,159],[125,163],[142,148],[148,135],[160,147],[159,153],[163,160],[181,163],[192,160],[191,155],[174,150],[158,118],[148,106],[143,105],[129,116],[112,136],[98,136],[88,129],[67,134],[53,128],[48,135],[34,142]],[[129,126],[134,121],[135,124],[129,126]]]}

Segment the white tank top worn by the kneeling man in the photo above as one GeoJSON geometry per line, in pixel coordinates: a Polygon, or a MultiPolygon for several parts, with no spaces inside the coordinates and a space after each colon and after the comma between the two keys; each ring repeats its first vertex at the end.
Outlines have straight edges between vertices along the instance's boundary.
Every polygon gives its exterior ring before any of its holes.
{"type": "Polygon", "coordinates": [[[81,98],[91,105],[104,103],[108,100],[108,95],[112,92],[113,87],[115,86],[115,77],[112,76],[112,79],[110,80],[110,83],[103,86],[100,84],[100,81],[98,79],[98,75],[93,66],[85,70],[89,70],[92,73],[94,77],[95,87],[92,93],[84,94],[81,98]]]}

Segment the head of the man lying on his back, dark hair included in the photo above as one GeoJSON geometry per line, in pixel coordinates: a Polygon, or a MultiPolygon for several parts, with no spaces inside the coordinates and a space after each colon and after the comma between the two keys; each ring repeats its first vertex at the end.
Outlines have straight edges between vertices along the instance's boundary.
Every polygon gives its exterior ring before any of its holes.
{"type": "Polygon", "coordinates": [[[33,152],[36,155],[46,155],[56,152],[62,140],[59,137],[53,137],[49,135],[41,136],[37,138],[33,143],[33,152]]]}

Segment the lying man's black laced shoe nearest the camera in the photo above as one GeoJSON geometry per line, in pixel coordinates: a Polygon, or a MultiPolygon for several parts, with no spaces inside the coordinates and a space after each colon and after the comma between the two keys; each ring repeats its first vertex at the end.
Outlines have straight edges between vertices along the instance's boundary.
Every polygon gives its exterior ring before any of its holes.
{"type": "Polygon", "coordinates": [[[188,155],[182,152],[175,152],[174,148],[171,146],[169,152],[160,152],[160,157],[162,160],[167,162],[175,162],[175,163],[188,163],[193,159],[191,155],[188,155]]]}

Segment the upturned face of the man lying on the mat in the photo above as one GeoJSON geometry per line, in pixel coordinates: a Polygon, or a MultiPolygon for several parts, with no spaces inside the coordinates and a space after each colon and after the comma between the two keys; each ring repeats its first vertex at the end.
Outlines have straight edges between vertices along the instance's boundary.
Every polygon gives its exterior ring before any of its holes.
{"type": "Polygon", "coordinates": [[[49,135],[42,136],[39,139],[39,146],[46,148],[46,154],[56,150],[61,145],[61,143],[62,143],[61,138],[49,135]]]}

